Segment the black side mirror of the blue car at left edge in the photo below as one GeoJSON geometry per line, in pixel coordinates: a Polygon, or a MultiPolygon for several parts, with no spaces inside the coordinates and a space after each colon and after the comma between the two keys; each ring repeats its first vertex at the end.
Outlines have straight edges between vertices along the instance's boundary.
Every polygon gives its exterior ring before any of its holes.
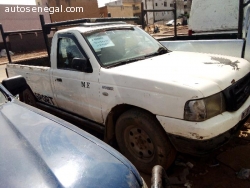
{"type": "Polygon", "coordinates": [[[28,88],[28,84],[22,76],[6,78],[2,81],[2,85],[14,96],[28,88]]]}

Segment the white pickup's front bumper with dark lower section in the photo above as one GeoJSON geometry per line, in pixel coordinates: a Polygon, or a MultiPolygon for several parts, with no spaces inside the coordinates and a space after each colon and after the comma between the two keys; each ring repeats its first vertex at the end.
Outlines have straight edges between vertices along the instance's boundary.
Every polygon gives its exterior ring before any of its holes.
{"type": "Polygon", "coordinates": [[[235,112],[224,112],[203,122],[190,122],[157,116],[177,151],[192,155],[206,154],[226,143],[244,125],[241,120],[250,106],[250,97],[235,112]]]}

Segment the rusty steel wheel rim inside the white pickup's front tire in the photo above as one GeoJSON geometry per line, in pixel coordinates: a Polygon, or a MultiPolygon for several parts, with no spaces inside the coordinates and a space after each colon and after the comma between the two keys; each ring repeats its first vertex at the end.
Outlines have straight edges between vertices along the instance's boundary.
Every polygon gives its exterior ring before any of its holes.
{"type": "Polygon", "coordinates": [[[133,155],[145,162],[151,161],[154,156],[154,145],[147,133],[133,126],[127,134],[126,142],[133,155]]]}

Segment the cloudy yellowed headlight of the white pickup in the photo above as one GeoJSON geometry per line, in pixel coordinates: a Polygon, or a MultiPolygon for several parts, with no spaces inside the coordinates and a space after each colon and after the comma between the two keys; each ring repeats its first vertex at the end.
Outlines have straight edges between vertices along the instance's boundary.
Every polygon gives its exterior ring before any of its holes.
{"type": "Polygon", "coordinates": [[[204,99],[187,101],[184,108],[184,119],[188,121],[205,121],[221,114],[226,109],[222,93],[204,99]]]}

